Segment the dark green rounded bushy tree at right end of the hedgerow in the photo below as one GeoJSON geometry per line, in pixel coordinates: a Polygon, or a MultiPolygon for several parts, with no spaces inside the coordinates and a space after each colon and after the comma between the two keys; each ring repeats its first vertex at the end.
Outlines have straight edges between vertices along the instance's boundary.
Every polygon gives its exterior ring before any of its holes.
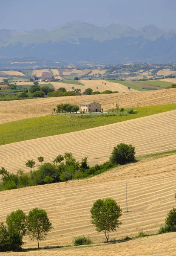
{"type": "Polygon", "coordinates": [[[116,164],[125,164],[131,163],[136,160],[135,158],[135,148],[130,144],[120,143],[116,147],[114,147],[109,160],[111,163],[116,164]]]}

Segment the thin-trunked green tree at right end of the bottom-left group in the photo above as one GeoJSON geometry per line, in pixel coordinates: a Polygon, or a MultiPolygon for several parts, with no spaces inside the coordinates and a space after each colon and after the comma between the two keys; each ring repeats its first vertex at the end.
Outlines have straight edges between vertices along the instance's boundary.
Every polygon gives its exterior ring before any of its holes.
{"type": "Polygon", "coordinates": [[[27,216],[27,233],[31,240],[37,239],[38,249],[39,241],[46,239],[47,233],[53,229],[47,213],[43,209],[34,208],[27,216]]]}

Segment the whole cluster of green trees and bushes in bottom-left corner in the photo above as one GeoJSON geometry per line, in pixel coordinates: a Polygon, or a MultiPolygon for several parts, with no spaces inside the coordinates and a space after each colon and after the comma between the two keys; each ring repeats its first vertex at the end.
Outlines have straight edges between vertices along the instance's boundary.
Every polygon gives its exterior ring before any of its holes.
{"type": "Polygon", "coordinates": [[[20,250],[24,244],[23,237],[27,235],[31,240],[37,240],[39,248],[39,241],[45,240],[51,229],[52,223],[43,209],[34,208],[28,215],[20,209],[11,212],[6,224],[0,223],[0,252],[20,250]]]}

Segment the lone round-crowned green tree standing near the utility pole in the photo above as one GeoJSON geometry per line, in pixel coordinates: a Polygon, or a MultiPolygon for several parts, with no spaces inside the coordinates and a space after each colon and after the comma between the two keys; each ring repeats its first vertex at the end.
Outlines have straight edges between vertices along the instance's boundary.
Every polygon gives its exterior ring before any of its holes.
{"type": "Polygon", "coordinates": [[[95,225],[98,232],[104,232],[107,242],[109,233],[116,231],[122,224],[119,217],[122,215],[122,209],[112,198],[98,199],[94,202],[91,212],[91,223],[95,225]]]}

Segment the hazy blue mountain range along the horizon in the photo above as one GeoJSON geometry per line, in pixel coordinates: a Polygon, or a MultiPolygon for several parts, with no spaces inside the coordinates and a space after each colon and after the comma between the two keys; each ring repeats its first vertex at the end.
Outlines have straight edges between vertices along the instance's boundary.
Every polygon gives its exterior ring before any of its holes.
{"type": "Polygon", "coordinates": [[[148,25],[141,29],[111,24],[98,27],[71,21],[52,31],[0,30],[1,57],[108,63],[176,61],[176,31],[148,25]]]}

